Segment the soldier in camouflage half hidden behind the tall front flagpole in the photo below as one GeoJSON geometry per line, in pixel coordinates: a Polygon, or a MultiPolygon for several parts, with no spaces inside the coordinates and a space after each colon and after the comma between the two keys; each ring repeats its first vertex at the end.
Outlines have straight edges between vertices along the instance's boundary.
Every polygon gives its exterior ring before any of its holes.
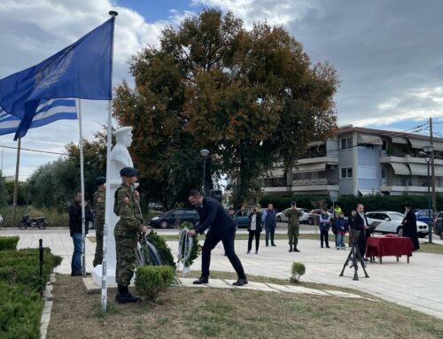
{"type": "Polygon", "coordinates": [[[96,229],[96,255],[92,266],[102,265],[103,262],[103,226],[105,225],[105,182],[100,176],[96,179],[97,191],[94,193],[94,228],[96,229]]]}

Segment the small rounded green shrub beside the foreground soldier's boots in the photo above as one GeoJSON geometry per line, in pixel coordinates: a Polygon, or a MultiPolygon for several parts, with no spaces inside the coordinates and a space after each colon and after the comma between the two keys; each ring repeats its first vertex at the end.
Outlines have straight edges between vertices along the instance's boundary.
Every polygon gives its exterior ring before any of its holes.
{"type": "Polygon", "coordinates": [[[155,301],[159,293],[174,281],[171,266],[139,266],[136,270],[136,290],[147,300],[155,301]]]}

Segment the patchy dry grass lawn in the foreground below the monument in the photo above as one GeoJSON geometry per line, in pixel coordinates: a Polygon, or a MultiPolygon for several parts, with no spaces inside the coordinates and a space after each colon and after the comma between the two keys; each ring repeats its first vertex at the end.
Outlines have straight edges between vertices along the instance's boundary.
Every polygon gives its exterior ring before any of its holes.
{"type": "Polygon", "coordinates": [[[100,295],[86,294],[80,277],[58,275],[47,338],[443,337],[441,320],[385,301],[174,287],[155,304],[116,304],[108,292],[102,313],[100,295]]]}

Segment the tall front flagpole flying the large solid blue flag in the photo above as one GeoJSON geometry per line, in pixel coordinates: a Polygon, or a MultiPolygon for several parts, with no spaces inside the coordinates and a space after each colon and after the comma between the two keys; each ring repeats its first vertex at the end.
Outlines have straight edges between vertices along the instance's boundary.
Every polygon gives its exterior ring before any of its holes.
{"type": "MultiPolygon", "coordinates": [[[[109,15],[115,18],[119,15],[118,12],[109,11],[109,15]]],[[[113,26],[113,33],[115,24],[113,26]]],[[[114,41],[114,35],[113,35],[114,41]]],[[[113,83],[113,44],[111,46],[111,88],[113,83]]],[[[111,146],[113,139],[113,99],[108,102],[108,128],[107,128],[107,140],[106,140],[106,205],[105,205],[105,225],[103,229],[103,263],[102,263],[102,293],[101,293],[101,310],[106,311],[106,297],[107,297],[107,237],[109,225],[111,222],[111,213],[113,212],[113,206],[111,205],[111,146]]],[[[113,235],[110,235],[113,236],[113,235]]]]}

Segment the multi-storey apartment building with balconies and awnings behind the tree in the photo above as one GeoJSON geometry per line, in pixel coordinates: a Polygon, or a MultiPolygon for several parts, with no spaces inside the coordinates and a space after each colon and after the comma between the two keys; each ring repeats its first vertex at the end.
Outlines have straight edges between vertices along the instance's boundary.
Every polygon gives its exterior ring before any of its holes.
{"type": "MultiPolygon", "coordinates": [[[[284,173],[278,166],[262,178],[271,195],[367,195],[427,192],[424,146],[429,136],[346,126],[326,142],[308,145],[297,166],[284,173]]],[[[443,139],[434,138],[437,192],[443,192],[443,139]]]]}

